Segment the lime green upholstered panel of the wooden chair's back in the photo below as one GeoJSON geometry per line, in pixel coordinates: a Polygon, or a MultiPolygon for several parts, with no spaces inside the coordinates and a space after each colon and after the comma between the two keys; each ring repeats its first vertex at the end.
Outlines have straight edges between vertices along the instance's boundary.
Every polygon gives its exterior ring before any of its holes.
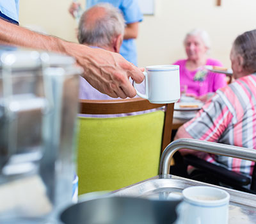
{"type": "Polygon", "coordinates": [[[79,118],[79,195],[113,191],[158,174],[164,112],[79,118]]]}

